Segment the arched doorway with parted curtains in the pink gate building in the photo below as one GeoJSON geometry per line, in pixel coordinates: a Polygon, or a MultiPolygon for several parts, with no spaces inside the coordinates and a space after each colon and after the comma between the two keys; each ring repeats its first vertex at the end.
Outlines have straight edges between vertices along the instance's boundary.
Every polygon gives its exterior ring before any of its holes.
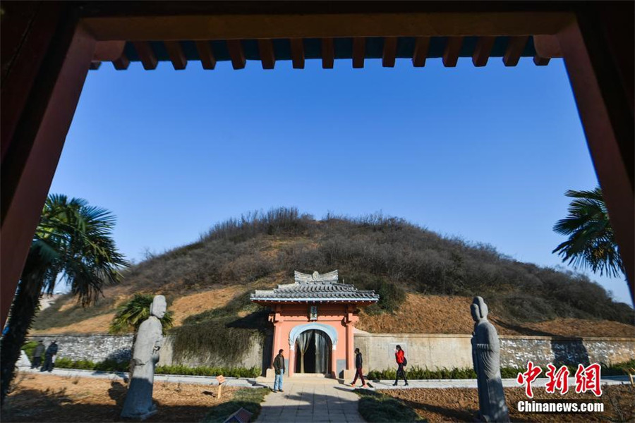
{"type": "Polygon", "coordinates": [[[296,373],[331,372],[331,339],[325,331],[308,329],[298,335],[296,339],[296,373]]]}

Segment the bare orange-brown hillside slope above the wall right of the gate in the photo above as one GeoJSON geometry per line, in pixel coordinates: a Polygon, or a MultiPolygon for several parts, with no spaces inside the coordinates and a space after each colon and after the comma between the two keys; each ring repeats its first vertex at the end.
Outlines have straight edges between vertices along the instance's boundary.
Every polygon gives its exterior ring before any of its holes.
{"type": "MultiPolygon", "coordinates": [[[[364,314],[356,327],[373,333],[472,333],[471,303],[471,297],[409,293],[394,314],[364,314]]],[[[635,326],[607,320],[555,319],[512,325],[490,314],[490,321],[500,335],[635,336],[635,326]]]]}

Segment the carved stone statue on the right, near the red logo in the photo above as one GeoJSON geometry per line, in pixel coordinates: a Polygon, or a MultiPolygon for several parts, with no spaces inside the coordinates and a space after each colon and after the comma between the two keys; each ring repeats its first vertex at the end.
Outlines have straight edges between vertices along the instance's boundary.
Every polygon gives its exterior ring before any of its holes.
{"type": "Polygon", "coordinates": [[[474,324],[472,360],[478,382],[478,419],[483,422],[509,422],[509,410],[500,380],[498,333],[488,321],[488,305],[474,297],[470,307],[474,324]]]}

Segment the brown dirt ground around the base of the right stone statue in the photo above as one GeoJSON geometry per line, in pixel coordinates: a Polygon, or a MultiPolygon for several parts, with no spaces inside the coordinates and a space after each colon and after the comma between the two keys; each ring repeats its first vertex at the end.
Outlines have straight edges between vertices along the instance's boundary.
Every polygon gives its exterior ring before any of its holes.
{"type": "MultiPolygon", "coordinates": [[[[635,388],[629,385],[603,387],[604,412],[551,414],[543,412],[519,412],[517,404],[528,400],[524,388],[504,388],[507,407],[512,422],[633,422],[635,421],[635,388]]],[[[474,422],[478,412],[478,393],[471,388],[446,389],[398,389],[381,391],[389,396],[404,400],[421,417],[435,422],[474,422]]],[[[544,388],[534,390],[533,400],[566,400],[567,402],[598,402],[593,393],[579,394],[569,391],[548,394],[544,388]]]]}

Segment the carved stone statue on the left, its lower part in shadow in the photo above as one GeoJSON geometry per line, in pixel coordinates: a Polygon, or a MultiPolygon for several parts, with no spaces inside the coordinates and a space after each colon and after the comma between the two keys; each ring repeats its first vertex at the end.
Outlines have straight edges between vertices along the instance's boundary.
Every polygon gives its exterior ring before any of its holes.
{"type": "Polygon", "coordinates": [[[155,365],[159,361],[159,349],[163,345],[159,319],[164,316],[166,306],[165,297],[156,295],[150,305],[150,317],[139,326],[133,350],[134,372],[121,417],[144,420],[157,412],[157,405],[152,403],[152,384],[155,380],[155,365]]]}

